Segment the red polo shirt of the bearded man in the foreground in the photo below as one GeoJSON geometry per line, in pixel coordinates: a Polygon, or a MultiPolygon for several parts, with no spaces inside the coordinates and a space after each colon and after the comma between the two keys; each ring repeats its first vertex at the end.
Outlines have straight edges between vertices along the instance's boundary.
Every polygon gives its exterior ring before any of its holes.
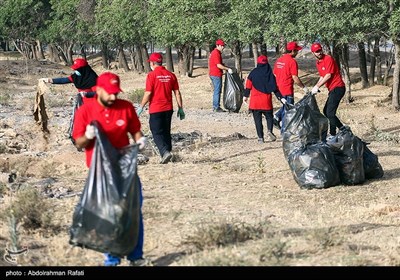
{"type": "MultiPolygon", "coordinates": [[[[127,133],[134,135],[140,131],[141,126],[132,103],[117,99],[111,107],[104,107],[99,104],[97,95],[95,95],[93,98],[88,98],[76,111],[72,137],[77,139],[83,136],[86,126],[93,120],[101,124],[108,140],[118,149],[129,145],[127,133]]],[[[93,149],[94,141],[91,141],[85,148],[86,165],[88,167],[90,167],[92,161],[93,149]]]]}

